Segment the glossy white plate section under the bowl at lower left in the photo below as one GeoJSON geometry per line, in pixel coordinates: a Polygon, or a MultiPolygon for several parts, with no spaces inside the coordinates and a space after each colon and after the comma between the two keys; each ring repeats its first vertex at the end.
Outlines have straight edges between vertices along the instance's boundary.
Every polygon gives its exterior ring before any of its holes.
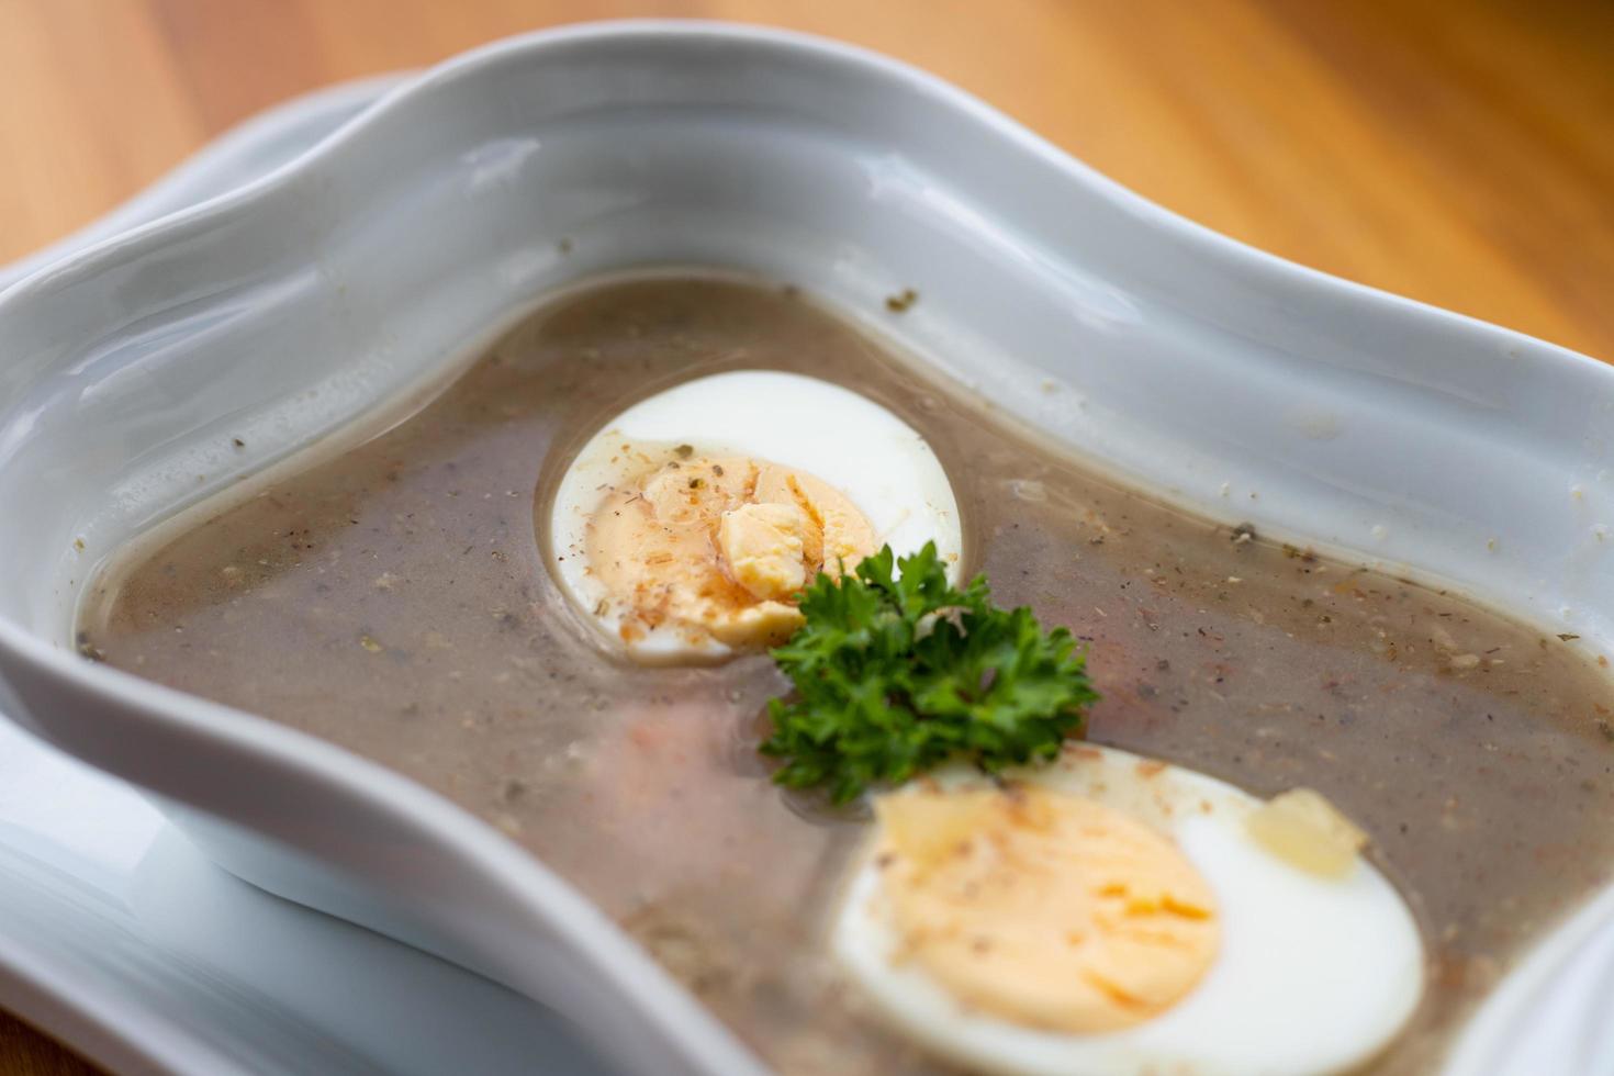
{"type": "Polygon", "coordinates": [[[0,1007],[123,1076],[602,1076],[554,1013],[279,900],[0,724],[0,1007]]]}

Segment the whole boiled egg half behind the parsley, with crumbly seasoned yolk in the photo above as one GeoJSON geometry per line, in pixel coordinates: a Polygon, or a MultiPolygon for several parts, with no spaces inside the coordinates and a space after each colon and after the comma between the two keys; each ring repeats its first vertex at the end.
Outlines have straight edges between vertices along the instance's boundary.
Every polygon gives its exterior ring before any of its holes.
{"type": "Polygon", "coordinates": [[[947,476],[918,432],[849,389],[778,371],[713,374],[605,423],[550,508],[562,589],[641,661],[776,645],[794,595],[889,544],[962,555],[947,476]]]}

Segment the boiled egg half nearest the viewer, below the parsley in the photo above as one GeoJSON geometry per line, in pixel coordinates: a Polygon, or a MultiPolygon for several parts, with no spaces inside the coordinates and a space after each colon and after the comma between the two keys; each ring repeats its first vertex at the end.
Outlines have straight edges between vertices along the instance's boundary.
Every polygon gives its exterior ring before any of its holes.
{"type": "Polygon", "coordinates": [[[1312,792],[1267,803],[1070,745],[1001,781],[943,771],[875,810],[836,955],[973,1070],[1341,1073],[1422,995],[1412,915],[1312,792]]]}

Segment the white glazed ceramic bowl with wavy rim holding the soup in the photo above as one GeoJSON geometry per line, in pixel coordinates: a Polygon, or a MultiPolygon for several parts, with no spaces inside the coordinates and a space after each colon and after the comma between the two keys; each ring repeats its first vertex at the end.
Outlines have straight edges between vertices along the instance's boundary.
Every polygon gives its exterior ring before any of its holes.
{"type": "MultiPolygon", "coordinates": [[[[128,537],[433,384],[544,292],[665,263],[796,282],[1198,511],[1611,639],[1614,371],[1219,237],[880,56],[625,23],[454,60],[0,295],[3,708],[229,870],[549,1002],[631,1071],[755,1071],[465,811],[71,645],[128,537]]],[[[1545,944],[1453,1070],[1606,1071],[1611,923],[1606,895],[1545,944]]]]}

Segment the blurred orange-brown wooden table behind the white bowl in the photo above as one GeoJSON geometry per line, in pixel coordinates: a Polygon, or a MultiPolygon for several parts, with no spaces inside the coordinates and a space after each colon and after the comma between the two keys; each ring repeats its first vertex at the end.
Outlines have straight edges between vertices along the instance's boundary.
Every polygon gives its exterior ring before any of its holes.
{"type": "MultiPolygon", "coordinates": [[[[1595,0],[0,0],[0,261],[292,94],[629,15],[880,48],[1210,227],[1614,358],[1595,0]]],[[[0,1073],[86,1071],[0,1015],[0,1073]]]]}

